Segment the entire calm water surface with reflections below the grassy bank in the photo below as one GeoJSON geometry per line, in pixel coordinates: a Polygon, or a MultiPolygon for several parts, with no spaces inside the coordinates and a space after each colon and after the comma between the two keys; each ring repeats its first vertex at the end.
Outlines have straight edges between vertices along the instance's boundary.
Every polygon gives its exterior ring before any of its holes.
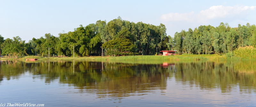
{"type": "Polygon", "coordinates": [[[256,61],[1,61],[0,103],[256,106],[256,61]]]}

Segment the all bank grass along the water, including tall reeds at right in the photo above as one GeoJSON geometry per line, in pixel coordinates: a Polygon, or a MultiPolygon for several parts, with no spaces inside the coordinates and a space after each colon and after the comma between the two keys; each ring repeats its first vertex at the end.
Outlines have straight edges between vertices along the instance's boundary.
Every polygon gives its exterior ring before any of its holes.
{"type": "MultiPolygon", "coordinates": [[[[216,54],[182,54],[171,56],[155,56],[155,55],[136,55],[136,56],[92,56],[92,57],[40,57],[40,56],[25,56],[14,58],[15,60],[25,60],[29,58],[38,58],[38,60],[87,60],[87,61],[199,61],[199,60],[256,60],[256,48],[253,47],[239,47],[233,53],[227,53],[226,55],[216,54]],[[243,54],[241,54],[243,53],[243,54]]],[[[4,60],[13,60],[12,57],[4,60]]]]}

